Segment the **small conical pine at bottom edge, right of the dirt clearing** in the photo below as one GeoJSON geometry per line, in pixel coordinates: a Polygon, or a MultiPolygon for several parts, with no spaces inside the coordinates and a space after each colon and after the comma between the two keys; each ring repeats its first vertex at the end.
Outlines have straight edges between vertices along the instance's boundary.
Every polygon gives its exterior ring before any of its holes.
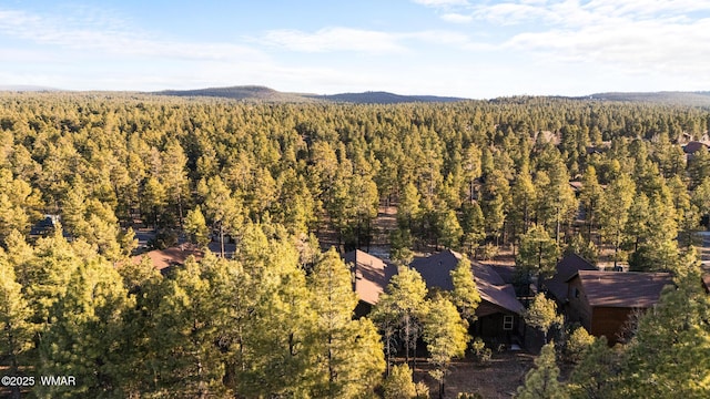
{"type": "Polygon", "coordinates": [[[535,359],[535,367],[525,376],[525,385],[518,387],[519,399],[567,399],[567,388],[558,381],[559,368],[555,361],[555,344],[542,347],[535,359]]]}

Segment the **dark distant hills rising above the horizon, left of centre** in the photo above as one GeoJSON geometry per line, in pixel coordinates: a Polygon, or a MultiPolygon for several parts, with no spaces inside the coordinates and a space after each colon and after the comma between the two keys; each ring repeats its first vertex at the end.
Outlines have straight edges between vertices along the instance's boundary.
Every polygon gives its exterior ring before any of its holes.
{"type": "Polygon", "coordinates": [[[175,96],[212,96],[223,99],[234,99],[244,101],[265,102],[345,102],[358,104],[398,104],[410,102],[455,102],[466,99],[436,95],[400,95],[383,91],[363,93],[341,93],[341,94],[304,94],[284,93],[261,85],[243,85],[231,88],[210,88],[195,90],[164,90],[153,92],[158,95],[175,96]]]}

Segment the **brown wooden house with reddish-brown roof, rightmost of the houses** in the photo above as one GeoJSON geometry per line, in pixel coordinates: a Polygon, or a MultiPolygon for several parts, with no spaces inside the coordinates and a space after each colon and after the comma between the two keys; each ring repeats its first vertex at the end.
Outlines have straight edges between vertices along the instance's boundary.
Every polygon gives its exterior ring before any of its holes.
{"type": "Polygon", "coordinates": [[[613,345],[622,340],[630,317],[652,307],[672,284],[669,273],[580,269],[567,279],[567,321],[578,321],[613,345]]]}

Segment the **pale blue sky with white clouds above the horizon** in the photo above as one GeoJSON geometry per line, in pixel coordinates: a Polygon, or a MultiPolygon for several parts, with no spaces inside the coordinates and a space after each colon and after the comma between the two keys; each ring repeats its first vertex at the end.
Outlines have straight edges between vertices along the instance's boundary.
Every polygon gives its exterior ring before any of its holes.
{"type": "Polygon", "coordinates": [[[710,90],[710,0],[0,0],[0,85],[710,90]]]}

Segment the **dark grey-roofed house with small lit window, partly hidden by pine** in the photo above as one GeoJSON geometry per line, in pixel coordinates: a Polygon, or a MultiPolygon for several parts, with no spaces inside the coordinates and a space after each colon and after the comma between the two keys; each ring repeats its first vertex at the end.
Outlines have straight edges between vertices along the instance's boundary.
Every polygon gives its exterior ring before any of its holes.
{"type": "MultiPolygon", "coordinates": [[[[410,266],[422,275],[428,289],[452,290],[452,270],[462,257],[460,254],[446,249],[428,257],[416,258],[410,266]]],[[[471,272],[480,295],[480,304],[476,309],[477,320],[470,326],[470,332],[489,341],[519,344],[524,331],[521,315],[525,307],[517,299],[515,288],[490,266],[471,262],[471,272]]]]}

